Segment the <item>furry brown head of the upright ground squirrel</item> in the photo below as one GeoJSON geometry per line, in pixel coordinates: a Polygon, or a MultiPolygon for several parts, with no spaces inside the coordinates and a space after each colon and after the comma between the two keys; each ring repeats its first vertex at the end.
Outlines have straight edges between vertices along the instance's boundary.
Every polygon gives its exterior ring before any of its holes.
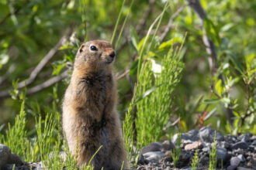
{"type": "Polygon", "coordinates": [[[104,40],[88,41],[78,49],[74,60],[74,69],[92,72],[112,70],[115,58],[116,52],[109,42],[104,40]]]}

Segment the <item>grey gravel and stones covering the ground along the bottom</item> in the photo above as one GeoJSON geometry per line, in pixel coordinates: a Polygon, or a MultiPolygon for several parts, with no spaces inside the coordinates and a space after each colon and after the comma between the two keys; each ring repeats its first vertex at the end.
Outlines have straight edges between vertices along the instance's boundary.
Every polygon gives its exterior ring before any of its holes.
{"type": "MultiPolygon", "coordinates": [[[[182,151],[176,168],[171,157],[178,141],[178,134],[164,142],[154,142],[141,150],[140,160],[133,169],[192,169],[192,159],[195,151],[198,152],[199,162],[197,169],[209,168],[209,154],[214,144],[215,131],[204,127],[200,130],[192,130],[182,133],[182,151]]],[[[253,134],[241,134],[240,136],[223,136],[216,131],[216,169],[227,170],[255,170],[256,169],[256,136],[253,134]]],[[[16,164],[16,170],[40,170],[41,162],[22,162],[18,155],[5,145],[0,144],[0,170],[12,170],[16,164]],[[32,168],[31,168],[32,167],[32,168]]]]}

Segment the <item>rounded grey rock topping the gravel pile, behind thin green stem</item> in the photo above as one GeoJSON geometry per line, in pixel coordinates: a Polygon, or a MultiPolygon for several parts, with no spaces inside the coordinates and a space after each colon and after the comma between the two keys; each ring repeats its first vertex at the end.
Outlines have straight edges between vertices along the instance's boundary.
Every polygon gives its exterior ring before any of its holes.
{"type": "MultiPolygon", "coordinates": [[[[199,131],[199,138],[201,141],[204,142],[210,142],[212,143],[214,141],[215,137],[215,130],[209,127],[203,127],[199,131]]],[[[224,141],[223,134],[220,134],[220,132],[216,131],[216,141],[224,141]]]]}

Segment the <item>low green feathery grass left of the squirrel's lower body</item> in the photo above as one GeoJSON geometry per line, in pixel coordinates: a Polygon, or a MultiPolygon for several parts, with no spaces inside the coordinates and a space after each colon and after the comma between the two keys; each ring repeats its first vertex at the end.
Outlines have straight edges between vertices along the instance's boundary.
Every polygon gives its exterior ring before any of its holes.
{"type": "MultiPolygon", "coordinates": [[[[25,162],[42,162],[47,169],[75,169],[77,167],[77,155],[72,156],[67,146],[67,141],[61,138],[61,114],[47,114],[44,120],[36,118],[36,138],[28,138],[25,127],[27,125],[25,100],[22,101],[20,112],[16,116],[14,124],[9,124],[6,134],[1,134],[0,143],[9,146],[12,152],[19,155],[25,162]],[[53,116],[54,115],[54,116],[53,116]],[[62,145],[63,143],[63,145],[62,145]],[[63,150],[61,149],[63,147],[63,150]],[[60,155],[66,154],[66,159],[60,155]]],[[[102,147],[100,147],[102,148],[102,147]]],[[[99,149],[100,149],[99,148],[99,149]]],[[[99,151],[98,149],[98,151],[99,151]]],[[[97,152],[95,152],[95,155],[97,152]]],[[[92,158],[94,158],[94,156],[92,158]]],[[[90,165],[84,165],[82,169],[93,169],[90,165]]]]}

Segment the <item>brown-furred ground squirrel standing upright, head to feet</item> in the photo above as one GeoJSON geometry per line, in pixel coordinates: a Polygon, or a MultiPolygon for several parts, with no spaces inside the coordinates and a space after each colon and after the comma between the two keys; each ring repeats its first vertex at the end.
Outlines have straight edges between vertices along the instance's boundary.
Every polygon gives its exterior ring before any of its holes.
{"type": "Polygon", "coordinates": [[[95,169],[127,168],[119,117],[116,114],[116,80],[112,75],[114,52],[109,42],[94,40],[82,44],[74,61],[71,83],[63,103],[63,128],[67,144],[78,165],[92,160],[95,169]],[[90,46],[96,46],[92,51],[90,46]]]}

